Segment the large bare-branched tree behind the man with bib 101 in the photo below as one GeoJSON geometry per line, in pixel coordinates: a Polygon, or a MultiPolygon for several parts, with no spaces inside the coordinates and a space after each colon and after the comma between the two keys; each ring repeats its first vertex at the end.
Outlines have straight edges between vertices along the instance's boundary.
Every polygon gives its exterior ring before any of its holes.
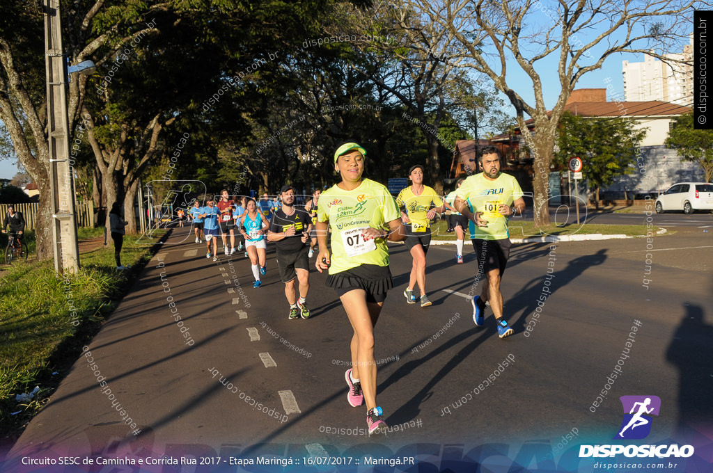
{"type": "Polygon", "coordinates": [[[515,108],[520,130],[528,130],[525,113],[535,122],[535,134],[524,132],[534,156],[535,225],[550,222],[547,209],[549,170],[556,130],[567,99],[586,73],[602,67],[615,53],[648,53],[664,58],[672,46],[687,41],[690,16],[697,0],[402,0],[404,26],[412,16],[427,19],[424,34],[448,31],[463,46],[468,65],[490,78],[515,108]],[[545,25],[545,26],[540,26],[545,25]],[[540,67],[551,58],[556,68],[540,67]],[[540,63],[541,64],[541,63],[540,63]],[[508,68],[519,68],[528,81],[513,80],[508,68]],[[543,83],[556,80],[560,95],[550,110],[543,83]],[[534,92],[525,100],[525,88],[534,92]]]}

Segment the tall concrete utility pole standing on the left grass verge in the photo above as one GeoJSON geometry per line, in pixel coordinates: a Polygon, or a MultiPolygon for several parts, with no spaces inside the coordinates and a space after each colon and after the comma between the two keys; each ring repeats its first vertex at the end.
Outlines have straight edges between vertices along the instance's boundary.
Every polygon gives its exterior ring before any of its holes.
{"type": "Polygon", "coordinates": [[[74,170],[69,162],[67,70],[62,49],[59,0],[43,0],[47,69],[47,128],[54,270],[76,274],[79,246],[74,192],[74,170]]]}

